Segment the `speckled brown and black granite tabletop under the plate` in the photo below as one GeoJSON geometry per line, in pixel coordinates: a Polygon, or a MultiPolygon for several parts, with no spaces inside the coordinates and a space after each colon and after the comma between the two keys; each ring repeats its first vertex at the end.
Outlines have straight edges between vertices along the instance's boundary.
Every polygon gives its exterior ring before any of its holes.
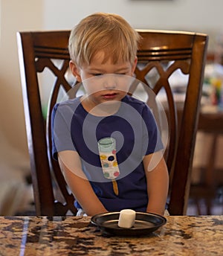
{"type": "Polygon", "coordinates": [[[223,216],[170,216],[143,237],[106,237],[90,217],[0,217],[0,255],[223,255],[223,216]]]}

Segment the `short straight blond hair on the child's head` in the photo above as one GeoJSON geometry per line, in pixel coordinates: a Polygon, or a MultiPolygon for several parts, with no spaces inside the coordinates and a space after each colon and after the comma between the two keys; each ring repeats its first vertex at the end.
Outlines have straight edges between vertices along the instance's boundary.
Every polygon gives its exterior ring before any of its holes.
{"type": "Polygon", "coordinates": [[[125,19],[117,14],[94,13],[80,21],[71,31],[69,53],[77,65],[90,64],[98,51],[106,62],[111,58],[134,63],[140,36],[125,19]]]}

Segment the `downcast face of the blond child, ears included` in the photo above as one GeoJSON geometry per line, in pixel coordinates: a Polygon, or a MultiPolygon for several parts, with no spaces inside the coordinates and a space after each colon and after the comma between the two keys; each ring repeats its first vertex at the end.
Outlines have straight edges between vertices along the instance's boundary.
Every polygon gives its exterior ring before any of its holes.
{"type": "Polygon", "coordinates": [[[90,65],[83,64],[81,67],[77,67],[74,63],[70,63],[72,73],[77,81],[83,81],[88,98],[95,105],[111,100],[122,100],[130,86],[128,77],[133,76],[137,63],[137,57],[135,57],[133,65],[130,62],[114,64],[111,58],[105,63],[103,60],[104,54],[103,51],[100,51],[92,58],[90,65]],[[106,74],[106,76],[100,76],[102,74],[106,74]],[[97,77],[97,79],[88,79],[91,77],[97,77]]]}

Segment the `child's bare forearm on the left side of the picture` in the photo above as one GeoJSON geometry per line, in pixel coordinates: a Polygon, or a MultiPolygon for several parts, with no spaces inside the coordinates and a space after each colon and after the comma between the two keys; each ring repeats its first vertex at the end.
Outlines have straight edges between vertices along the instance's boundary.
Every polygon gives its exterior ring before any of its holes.
{"type": "Polygon", "coordinates": [[[71,150],[62,151],[58,153],[58,159],[65,181],[68,183],[75,199],[82,206],[83,211],[88,216],[107,212],[83,173],[78,153],[71,150]]]}

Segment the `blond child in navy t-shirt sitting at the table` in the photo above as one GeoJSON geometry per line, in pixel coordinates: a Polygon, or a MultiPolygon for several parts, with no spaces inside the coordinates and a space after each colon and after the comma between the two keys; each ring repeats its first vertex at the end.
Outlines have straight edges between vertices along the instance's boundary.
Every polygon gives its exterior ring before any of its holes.
{"type": "Polygon", "coordinates": [[[70,68],[86,94],[54,106],[52,141],[78,214],[164,214],[169,179],[158,128],[146,103],[127,94],[139,41],[110,13],[87,16],[71,31],[70,68]]]}

